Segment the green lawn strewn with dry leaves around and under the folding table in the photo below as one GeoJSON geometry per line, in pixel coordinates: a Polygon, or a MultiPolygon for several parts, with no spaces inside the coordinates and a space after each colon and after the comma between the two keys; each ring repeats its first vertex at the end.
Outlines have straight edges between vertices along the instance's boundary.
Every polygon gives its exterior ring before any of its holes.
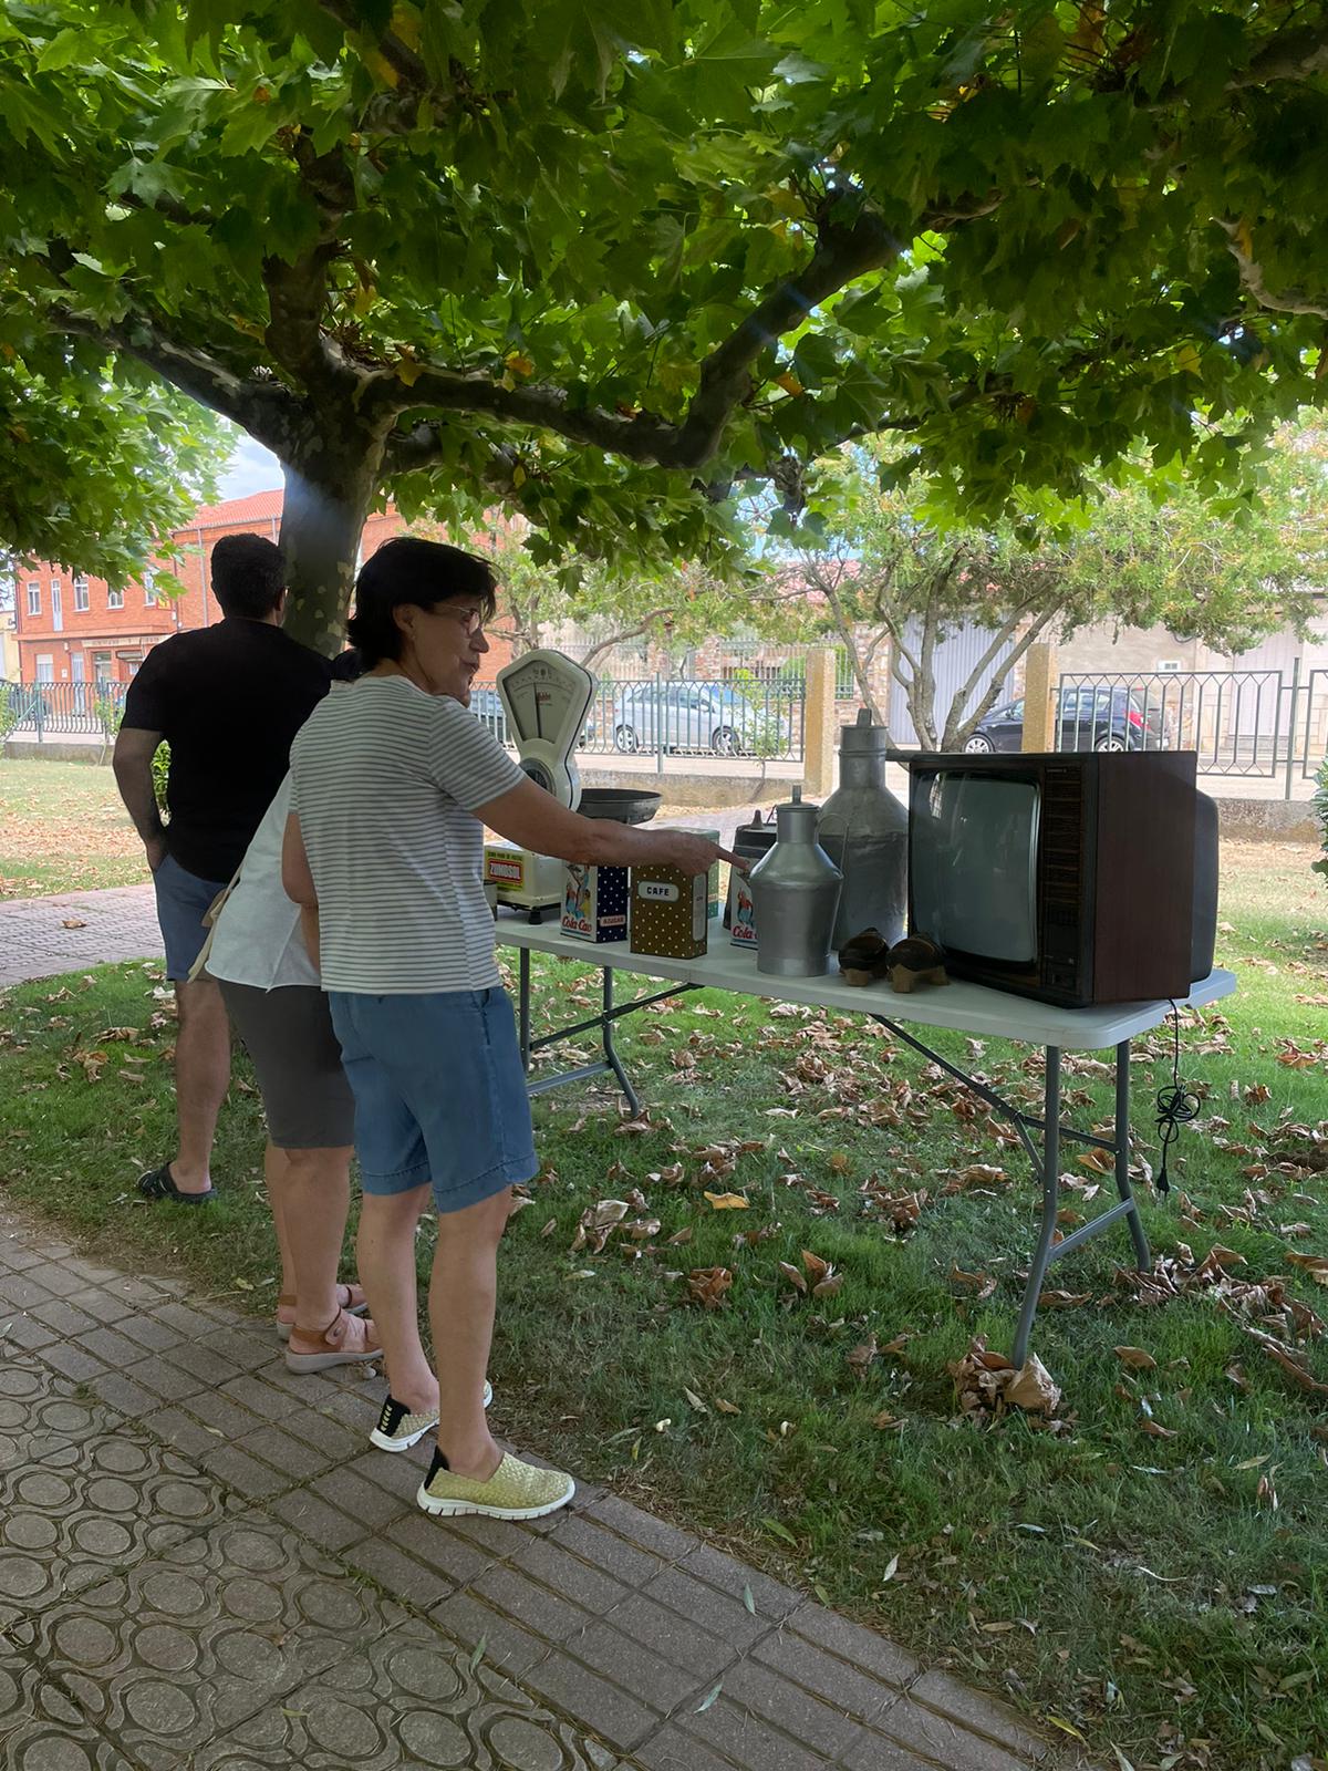
{"type": "MultiPolygon", "coordinates": [[[[1328,894],[1309,859],[1291,847],[1227,855],[1220,960],[1241,992],[1186,1025],[1183,1070],[1204,1091],[1202,1123],[1183,1133],[1176,1190],[1146,1218],[1154,1249],[1183,1241],[1202,1259],[1220,1243],[1247,1261],[1236,1277],[1286,1275],[1319,1307],[1328,1293],[1286,1261],[1328,1254],[1328,894]],[[1303,1068],[1280,1061],[1294,1056],[1284,1041],[1307,1054],[1303,1068]],[[1286,1130],[1316,1125],[1317,1146],[1286,1130]],[[1216,1148],[1218,1135],[1238,1148],[1216,1148]],[[1280,1169],[1284,1155],[1300,1162],[1280,1169]],[[1309,1233],[1282,1229],[1301,1224],[1309,1233]]],[[[538,983],[561,1018],[568,997],[591,1001],[584,969],[542,967],[538,983]]],[[[138,1169],[170,1144],[159,992],[152,967],[9,992],[0,1183],[103,1250],[170,1256],[207,1291],[266,1307],[262,1133],[243,1066],[223,1116],[218,1206],[170,1213],[133,1195],[138,1169]]],[[[1128,1241],[1108,1234],[1052,1270],[1054,1288],[1087,1302],[1045,1311],[1034,1334],[1064,1392],[1062,1429],[1023,1415],[961,1420],[947,1364],[974,1335],[1009,1346],[1036,1227],[1031,1176],[986,1114],[965,1116],[949,1084],[861,1022],[772,1017],[717,994],[625,1022],[620,1048],[650,1130],[623,1133],[607,1089],[537,1103],[544,1172],[503,1249],[492,1376],[505,1433],[1078,1728],[1107,1764],[1119,1748],[1133,1771],[1286,1771],[1296,1753],[1328,1750],[1323,1396],[1286,1376],[1213,1296],[1135,1302],[1116,1272],[1128,1241]],[[880,1102],[896,1126],[868,1123],[880,1102]],[[731,1174],[706,1174],[699,1151],[724,1141],[760,1148],[731,1174]],[[974,1162],[1009,1183],[942,1194],[974,1162]],[[910,1234],[864,1210],[873,1176],[928,1190],[910,1234]],[[629,1220],[659,1218],[659,1233],[574,1250],[581,1215],[632,1188],[645,1210],[629,1220]],[[714,1210],[706,1188],[749,1204],[714,1210]],[[735,1249],[742,1233],[761,1240],[735,1249]],[[691,1240],[669,1241],[680,1234],[691,1240]],[[843,1273],[834,1296],[806,1298],[781,1275],[779,1261],[799,1264],[804,1249],[843,1273]],[[733,1284],[705,1311],[687,1273],[712,1266],[733,1284]],[[995,1293],[974,1302],[951,1280],[956,1266],[992,1275],[995,1293]],[[882,1350],[907,1339],[861,1371],[848,1355],[869,1335],[882,1350]],[[1117,1346],[1156,1365],[1131,1371],[1117,1346]],[[1149,1422],[1169,1436],[1151,1436],[1149,1422]]],[[[1022,1050],[972,1052],[961,1038],[944,1050],[1036,1096],[1022,1050]]],[[[1135,1068],[1135,1132],[1154,1162],[1165,1070],[1154,1041],[1135,1068]]],[[[1077,1073],[1068,1087],[1078,1123],[1108,1118],[1103,1079],[1077,1073]]],[[[1077,1167],[1071,1151],[1066,1171],[1077,1167]]],[[[1066,1192],[1069,1210],[1103,1203],[1066,1192]]],[[[1305,1353],[1328,1383],[1328,1342],[1305,1353]]]]}

